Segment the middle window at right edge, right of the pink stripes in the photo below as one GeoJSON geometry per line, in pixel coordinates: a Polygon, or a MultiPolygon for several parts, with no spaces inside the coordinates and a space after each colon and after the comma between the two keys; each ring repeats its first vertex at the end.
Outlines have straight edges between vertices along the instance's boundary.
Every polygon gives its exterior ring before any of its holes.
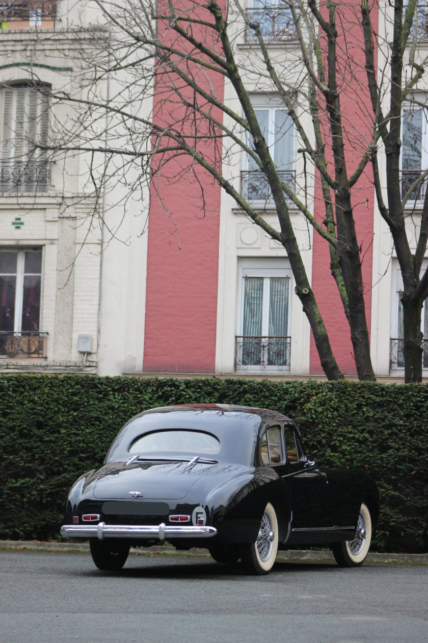
{"type": "MultiPolygon", "coordinates": [[[[402,197],[428,167],[428,112],[418,105],[406,105],[402,111],[401,192],[402,197]]],[[[411,192],[407,203],[424,201],[427,179],[411,192]]]]}

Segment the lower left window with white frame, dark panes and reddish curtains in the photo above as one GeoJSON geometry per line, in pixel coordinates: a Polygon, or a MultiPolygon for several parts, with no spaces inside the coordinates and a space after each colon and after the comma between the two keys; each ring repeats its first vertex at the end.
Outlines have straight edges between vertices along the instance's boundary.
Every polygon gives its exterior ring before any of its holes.
{"type": "Polygon", "coordinates": [[[42,249],[0,249],[0,354],[40,357],[42,249]]]}

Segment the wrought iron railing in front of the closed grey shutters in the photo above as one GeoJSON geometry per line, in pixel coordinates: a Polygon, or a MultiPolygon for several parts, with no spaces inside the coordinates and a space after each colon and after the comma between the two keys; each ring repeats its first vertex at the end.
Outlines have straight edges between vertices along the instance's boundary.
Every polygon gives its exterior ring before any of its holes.
{"type": "Polygon", "coordinates": [[[0,190],[43,190],[49,185],[49,161],[0,161],[0,190]]]}

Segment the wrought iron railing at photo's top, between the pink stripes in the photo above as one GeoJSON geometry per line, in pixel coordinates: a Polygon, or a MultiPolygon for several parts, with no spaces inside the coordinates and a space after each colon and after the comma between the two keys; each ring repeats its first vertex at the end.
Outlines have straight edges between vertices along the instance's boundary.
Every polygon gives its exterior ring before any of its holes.
{"type": "MultiPolygon", "coordinates": [[[[247,9],[246,17],[251,24],[258,24],[261,34],[266,41],[284,41],[296,39],[296,28],[291,10],[287,7],[264,6],[261,8],[247,9]]],[[[246,25],[245,40],[254,42],[255,31],[249,24],[246,25]]]]}

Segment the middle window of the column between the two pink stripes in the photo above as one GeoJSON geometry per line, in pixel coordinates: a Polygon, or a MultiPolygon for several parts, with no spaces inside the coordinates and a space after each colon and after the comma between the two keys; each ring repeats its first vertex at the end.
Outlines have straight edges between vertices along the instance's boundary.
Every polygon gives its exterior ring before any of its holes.
{"type": "MultiPolygon", "coordinates": [[[[270,104],[268,98],[254,99],[253,107],[264,139],[269,145],[270,153],[282,181],[295,188],[294,170],[294,125],[291,116],[283,105],[270,104]]],[[[253,147],[252,140],[247,141],[253,147]]],[[[272,201],[270,185],[266,175],[255,161],[246,154],[244,171],[241,177],[243,196],[250,201],[269,203],[272,201]]]]}

